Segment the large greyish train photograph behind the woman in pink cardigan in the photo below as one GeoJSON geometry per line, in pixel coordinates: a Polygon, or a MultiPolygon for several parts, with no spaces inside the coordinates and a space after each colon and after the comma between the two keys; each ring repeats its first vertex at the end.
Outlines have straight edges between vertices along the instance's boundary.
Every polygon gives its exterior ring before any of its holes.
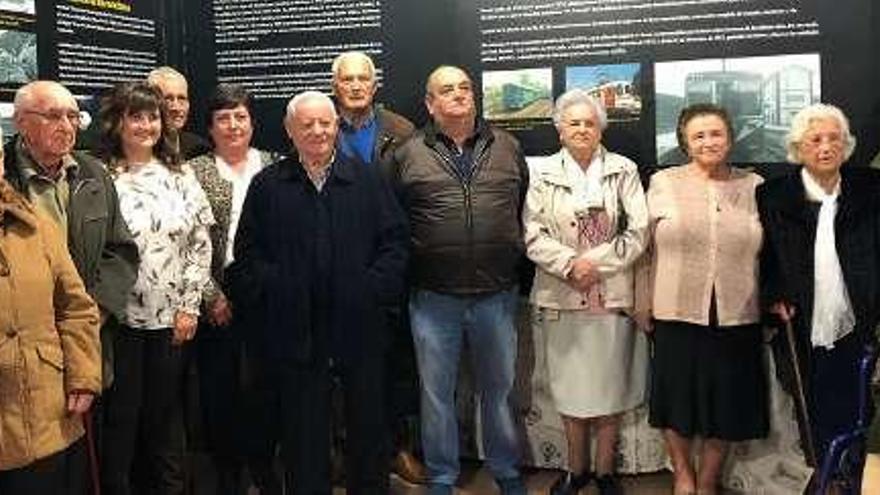
{"type": "Polygon", "coordinates": [[[791,118],[820,98],[819,54],[658,62],[654,65],[657,163],[683,163],[675,139],[678,113],[692,103],[730,112],[736,163],[785,162],[791,118]]]}

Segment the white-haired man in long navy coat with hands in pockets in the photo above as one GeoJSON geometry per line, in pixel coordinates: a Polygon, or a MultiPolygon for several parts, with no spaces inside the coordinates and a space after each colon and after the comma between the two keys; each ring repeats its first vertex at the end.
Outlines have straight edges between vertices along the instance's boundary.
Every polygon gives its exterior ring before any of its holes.
{"type": "Polygon", "coordinates": [[[331,491],[336,375],[345,401],[347,489],[385,494],[385,320],[404,292],[406,221],[380,171],[335,153],[330,98],[295,96],[285,128],[298,157],[268,167],[250,185],[228,273],[233,304],[262,312],[293,492],[331,491]]]}

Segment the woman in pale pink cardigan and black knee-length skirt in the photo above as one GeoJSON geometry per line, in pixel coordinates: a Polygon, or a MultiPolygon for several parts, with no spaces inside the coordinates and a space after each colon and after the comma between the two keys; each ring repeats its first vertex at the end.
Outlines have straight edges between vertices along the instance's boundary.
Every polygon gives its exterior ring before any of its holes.
{"type": "Polygon", "coordinates": [[[729,443],[768,430],[758,323],[761,178],[727,163],[733,128],[723,108],[685,108],[676,134],[689,162],[656,173],[648,190],[654,232],[649,421],[663,429],[674,493],[715,494],[729,443]],[[695,469],[697,436],[703,442],[695,469]]]}

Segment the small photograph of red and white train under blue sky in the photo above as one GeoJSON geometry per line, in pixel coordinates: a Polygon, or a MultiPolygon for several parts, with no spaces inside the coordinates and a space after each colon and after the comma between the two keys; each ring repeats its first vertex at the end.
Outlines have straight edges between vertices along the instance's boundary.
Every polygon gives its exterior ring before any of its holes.
{"type": "Polygon", "coordinates": [[[583,88],[599,99],[609,121],[638,120],[642,114],[640,64],[577,65],[565,69],[565,89],[583,88]]]}

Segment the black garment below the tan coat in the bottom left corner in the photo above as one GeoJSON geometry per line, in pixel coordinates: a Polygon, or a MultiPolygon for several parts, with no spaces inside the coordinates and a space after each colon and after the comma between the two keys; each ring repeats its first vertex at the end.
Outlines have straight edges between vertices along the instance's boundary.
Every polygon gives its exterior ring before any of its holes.
{"type": "Polygon", "coordinates": [[[85,495],[88,473],[85,439],[27,466],[0,471],[0,495],[85,495]]]}

